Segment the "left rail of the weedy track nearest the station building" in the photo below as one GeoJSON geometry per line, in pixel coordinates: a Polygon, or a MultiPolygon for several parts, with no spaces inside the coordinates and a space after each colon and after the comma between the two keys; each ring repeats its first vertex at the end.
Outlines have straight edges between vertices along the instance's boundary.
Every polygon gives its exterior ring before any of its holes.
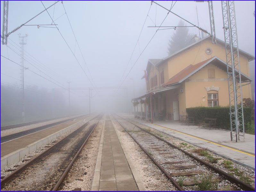
{"type": "MultiPolygon", "coordinates": [[[[114,116],[113,116],[114,117],[114,116]]],[[[115,118],[115,117],[114,117],[115,118]]],[[[115,118],[116,122],[123,127],[124,131],[126,131],[131,138],[140,146],[140,148],[149,156],[149,158],[158,166],[158,168],[166,175],[166,177],[171,180],[171,182],[175,185],[176,188],[178,188],[180,191],[185,191],[184,188],[182,188],[170,175],[166,170],[147,152],[145,148],[141,146],[141,144],[124,128],[123,125],[120,124],[120,122],[115,118]]]]}

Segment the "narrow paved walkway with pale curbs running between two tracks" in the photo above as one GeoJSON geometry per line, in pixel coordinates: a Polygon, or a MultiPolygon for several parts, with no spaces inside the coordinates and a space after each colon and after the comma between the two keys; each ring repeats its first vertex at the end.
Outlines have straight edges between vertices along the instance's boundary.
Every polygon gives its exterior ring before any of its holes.
{"type": "Polygon", "coordinates": [[[145,191],[122,142],[107,116],[102,131],[92,191],[145,191]]]}

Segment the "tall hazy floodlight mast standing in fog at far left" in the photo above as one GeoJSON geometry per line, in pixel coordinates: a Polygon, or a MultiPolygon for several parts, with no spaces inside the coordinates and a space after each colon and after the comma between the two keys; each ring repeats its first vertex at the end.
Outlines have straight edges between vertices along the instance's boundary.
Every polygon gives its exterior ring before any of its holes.
{"type": "Polygon", "coordinates": [[[21,36],[19,33],[21,44],[21,87],[22,87],[22,121],[25,122],[25,97],[24,97],[24,45],[27,44],[27,36],[21,36]]]}

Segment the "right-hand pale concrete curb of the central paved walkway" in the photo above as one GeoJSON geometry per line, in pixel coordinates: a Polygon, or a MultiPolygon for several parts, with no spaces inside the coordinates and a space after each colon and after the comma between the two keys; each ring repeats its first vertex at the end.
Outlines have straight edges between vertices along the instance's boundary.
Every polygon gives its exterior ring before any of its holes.
{"type": "MultiPolygon", "coordinates": [[[[111,119],[111,122],[112,122],[112,124],[113,124],[112,119],[111,119]]],[[[113,124],[113,127],[114,127],[114,124],[113,124]]],[[[114,129],[115,129],[115,127],[114,127],[114,129]]],[[[119,135],[117,134],[116,129],[115,129],[115,133],[116,133],[117,138],[118,138],[118,140],[119,140],[119,142],[120,142],[120,144],[121,144],[121,147],[122,147],[122,149],[123,149],[123,151],[124,151],[124,155],[125,155],[126,160],[127,160],[128,164],[129,164],[129,166],[130,166],[130,169],[131,169],[131,171],[132,171],[132,175],[133,175],[134,180],[135,180],[135,182],[136,182],[136,184],[137,184],[137,186],[138,186],[139,191],[147,191],[146,188],[145,188],[145,186],[144,186],[144,183],[143,183],[142,180],[141,180],[141,177],[140,177],[140,175],[139,175],[139,172],[137,171],[137,169],[135,168],[134,164],[132,163],[132,159],[130,158],[130,156],[129,156],[127,150],[124,148],[124,144],[123,144],[123,142],[121,141],[121,138],[119,137],[119,135]]]]}

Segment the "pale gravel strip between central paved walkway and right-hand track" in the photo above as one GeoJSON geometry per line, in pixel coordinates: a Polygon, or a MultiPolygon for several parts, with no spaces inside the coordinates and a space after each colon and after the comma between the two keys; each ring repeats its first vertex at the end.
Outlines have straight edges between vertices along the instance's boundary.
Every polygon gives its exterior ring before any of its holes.
{"type": "MultiPolygon", "coordinates": [[[[112,118],[113,120],[113,118],[112,118]]],[[[164,173],[151,161],[151,159],[142,151],[140,146],[130,137],[124,129],[113,120],[113,125],[117,134],[126,148],[134,166],[136,167],[145,188],[148,191],[174,191],[176,188],[166,178],[164,173]]]]}

